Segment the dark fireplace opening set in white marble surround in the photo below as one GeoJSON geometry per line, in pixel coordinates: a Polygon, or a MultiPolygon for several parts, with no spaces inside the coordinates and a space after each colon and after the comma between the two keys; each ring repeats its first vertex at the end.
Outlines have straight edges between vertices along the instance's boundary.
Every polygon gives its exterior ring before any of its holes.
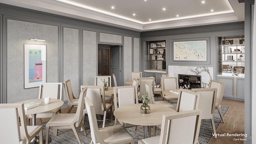
{"type": "Polygon", "coordinates": [[[188,75],[188,74],[178,74],[179,87],[184,87],[188,89],[191,88],[201,88],[201,76],[188,75]]]}

